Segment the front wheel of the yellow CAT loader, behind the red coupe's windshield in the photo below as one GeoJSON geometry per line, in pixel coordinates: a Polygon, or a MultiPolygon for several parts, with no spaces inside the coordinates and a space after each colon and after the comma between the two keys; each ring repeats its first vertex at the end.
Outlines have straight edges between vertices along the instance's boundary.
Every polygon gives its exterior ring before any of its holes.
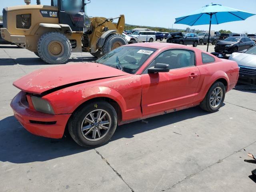
{"type": "Polygon", "coordinates": [[[105,40],[104,45],[102,47],[102,54],[105,55],[110,51],[118,48],[118,46],[126,45],[127,41],[120,34],[111,34],[105,40]]]}

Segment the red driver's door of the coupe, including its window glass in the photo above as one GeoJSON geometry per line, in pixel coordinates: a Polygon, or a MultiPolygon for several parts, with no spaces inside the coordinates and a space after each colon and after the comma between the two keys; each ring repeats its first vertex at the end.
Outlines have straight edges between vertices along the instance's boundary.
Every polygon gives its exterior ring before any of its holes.
{"type": "Polygon", "coordinates": [[[172,49],[159,54],[142,74],[142,115],[191,106],[200,79],[192,50],[172,49]],[[156,63],[169,64],[170,71],[150,74],[156,63]]]}

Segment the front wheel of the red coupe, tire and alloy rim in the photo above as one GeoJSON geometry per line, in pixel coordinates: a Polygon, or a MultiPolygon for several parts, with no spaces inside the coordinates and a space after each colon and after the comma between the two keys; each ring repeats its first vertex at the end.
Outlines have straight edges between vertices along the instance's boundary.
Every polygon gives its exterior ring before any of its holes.
{"type": "Polygon", "coordinates": [[[116,130],[117,114],[112,105],[95,101],[76,110],[68,122],[70,136],[84,147],[108,142],[116,130]]]}

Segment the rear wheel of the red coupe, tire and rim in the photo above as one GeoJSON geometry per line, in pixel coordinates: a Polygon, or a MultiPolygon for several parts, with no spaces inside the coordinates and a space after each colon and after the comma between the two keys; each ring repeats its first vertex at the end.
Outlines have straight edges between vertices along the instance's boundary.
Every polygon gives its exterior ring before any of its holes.
{"type": "Polygon", "coordinates": [[[225,93],[225,86],[222,82],[214,83],[200,103],[200,107],[208,112],[218,111],[224,102],[225,93]]]}

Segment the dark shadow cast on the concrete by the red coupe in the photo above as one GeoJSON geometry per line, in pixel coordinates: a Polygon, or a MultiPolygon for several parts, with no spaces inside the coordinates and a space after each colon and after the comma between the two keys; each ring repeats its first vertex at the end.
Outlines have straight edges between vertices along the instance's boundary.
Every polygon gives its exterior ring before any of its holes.
{"type": "MultiPolygon", "coordinates": [[[[109,142],[120,138],[132,138],[142,132],[206,114],[209,113],[199,107],[194,107],[148,118],[144,122],[137,121],[124,124],[118,126],[109,142]]],[[[0,120],[0,138],[0,161],[2,162],[28,163],[46,161],[92,150],[78,146],[69,135],[64,136],[62,139],[51,139],[30,134],[14,116],[0,120]]]]}

